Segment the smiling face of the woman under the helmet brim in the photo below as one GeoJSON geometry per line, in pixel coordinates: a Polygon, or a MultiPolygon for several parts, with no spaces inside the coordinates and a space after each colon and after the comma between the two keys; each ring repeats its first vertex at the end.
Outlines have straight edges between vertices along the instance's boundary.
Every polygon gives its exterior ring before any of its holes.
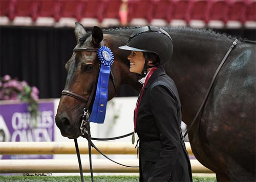
{"type": "Polygon", "coordinates": [[[130,71],[141,74],[145,64],[143,53],[141,51],[132,51],[127,59],[130,61],[130,71]]]}

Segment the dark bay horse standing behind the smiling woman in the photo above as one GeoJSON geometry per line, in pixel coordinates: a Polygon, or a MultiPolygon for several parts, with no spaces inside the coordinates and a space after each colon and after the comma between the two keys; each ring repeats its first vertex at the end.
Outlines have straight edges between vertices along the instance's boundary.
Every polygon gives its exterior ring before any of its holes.
{"type": "MultiPolygon", "coordinates": [[[[109,81],[108,100],[122,84],[129,84],[137,91],[141,89],[139,76],[129,71],[129,51],[118,48],[126,44],[135,29],[94,27],[86,31],[76,23],[77,48],[98,48],[103,43],[114,53],[111,65],[114,80],[109,81]]],[[[177,85],[182,120],[189,126],[234,38],[210,30],[164,30],[174,44],[172,60],[164,68],[177,85]]],[[[74,51],[65,66],[68,72],[65,90],[89,98],[97,84],[98,65],[95,51],[74,51]]],[[[62,136],[76,139],[81,135],[79,128],[85,106],[79,99],[61,96],[55,120],[62,136]]],[[[197,160],[214,171],[218,181],[255,181],[255,42],[239,40],[233,48],[188,137],[197,160]]]]}

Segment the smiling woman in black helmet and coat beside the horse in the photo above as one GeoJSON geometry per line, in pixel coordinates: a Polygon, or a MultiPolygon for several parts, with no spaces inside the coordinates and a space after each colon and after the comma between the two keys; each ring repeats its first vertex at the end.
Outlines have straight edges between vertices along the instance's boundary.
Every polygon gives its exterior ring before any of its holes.
{"type": "Polygon", "coordinates": [[[172,38],[160,28],[142,27],[119,48],[131,51],[127,57],[130,71],[142,77],[134,111],[134,131],[140,138],[140,181],[192,181],[180,130],[178,90],[163,68],[164,62],[172,61],[172,38]]]}

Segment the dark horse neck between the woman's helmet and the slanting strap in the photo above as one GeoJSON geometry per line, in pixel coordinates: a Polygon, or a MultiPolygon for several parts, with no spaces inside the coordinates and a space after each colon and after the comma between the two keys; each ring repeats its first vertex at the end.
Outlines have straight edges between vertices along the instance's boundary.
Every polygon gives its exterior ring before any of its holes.
{"type": "Polygon", "coordinates": [[[175,81],[186,124],[195,117],[231,40],[173,34],[174,54],[166,72],[175,81]]]}

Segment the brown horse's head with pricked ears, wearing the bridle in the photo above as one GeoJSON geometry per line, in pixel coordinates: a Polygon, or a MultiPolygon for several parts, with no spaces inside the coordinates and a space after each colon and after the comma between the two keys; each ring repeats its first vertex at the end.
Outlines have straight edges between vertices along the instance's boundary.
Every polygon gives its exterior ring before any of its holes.
{"type": "Polygon", "coordinates": [[[77,138],[81,135],[79,128],[83,109],[88,106],[89,112],[92,111],[95,96],[93,89],[97,85],[97,74],[100,69],[97,48],[101,45],[108,46],[115,57],[114,63],[111,65],[112,79],[109,81],[108,100],[112,99],[119,90],[120,67],[127,67],[125,70],[129,71],[128,66],[119,61],[126,59],[127,54],[124,54],[124,57],[116,56],[120,55],[118,51],[121,50],[117,46],[113,46],[114,39],[111,38],[111,35],[103,35],[99,27],[94,27],[92,32],[87,32],[80,23],[76,23],[75,36],[77,45],[72,57],[65,65],[68,75],[55,116],[61,135],[68,138],[77,138]]]}

